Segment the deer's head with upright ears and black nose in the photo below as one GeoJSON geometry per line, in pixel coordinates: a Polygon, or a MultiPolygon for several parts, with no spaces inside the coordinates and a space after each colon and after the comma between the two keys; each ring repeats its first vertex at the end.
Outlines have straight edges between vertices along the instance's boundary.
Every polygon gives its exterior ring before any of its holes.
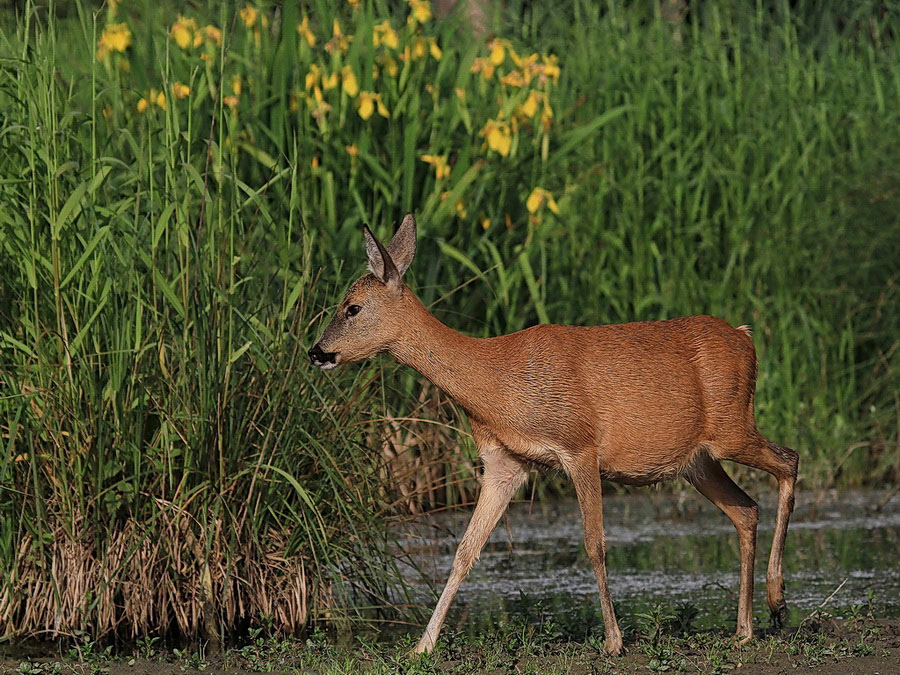
{"type": "Polygon", "coordinates": [[[363,228],[369,274],[350,286],[322,337],[307,352],[323,370],[386,351],[403,334],[409,291],[403,274],[416,254],[416,219],[407,214],[387,248],[363,228]]]}

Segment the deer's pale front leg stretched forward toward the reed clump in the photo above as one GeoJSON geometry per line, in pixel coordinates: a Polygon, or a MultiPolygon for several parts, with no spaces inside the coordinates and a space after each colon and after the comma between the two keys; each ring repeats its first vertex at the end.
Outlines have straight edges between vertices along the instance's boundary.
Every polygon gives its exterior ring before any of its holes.
{"type": "Polygon", "coordinates": [[[430,652],[434,649],[438,634],[447,610],[456,597],[459,585],[466,578],[472,565],[478,559],[481,549],[490,536],[500,516],[509,505],[509,500],[525,480],[527,472],[525,467],[502,446],[493,443],[481,443],[476,435],[478,449],[484,462],[484,481],[481,493],[478,495],[478,503],[472,514],[472,520],[466,528],[459,548],[456,549],[456,558],[453,560],[453,568],[450,578],[444,586],[444,592],[438,600],[431,620],[425,628],[425,634],[416,645],[415,653],[430,652]]]}

